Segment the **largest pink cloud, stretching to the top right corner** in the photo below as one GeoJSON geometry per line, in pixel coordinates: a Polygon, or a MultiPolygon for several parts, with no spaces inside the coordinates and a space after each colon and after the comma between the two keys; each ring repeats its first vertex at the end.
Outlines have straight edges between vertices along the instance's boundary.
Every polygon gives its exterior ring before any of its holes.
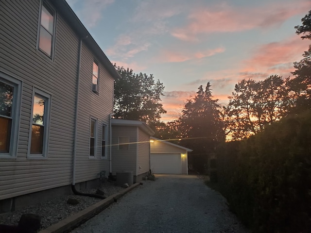
{"type": "Polygon", "coordinates": [[[190,13],[189,23],[172,31],[180,40],[197,41],[199,34],[241,32],[254,28],[269,28],[282,24],[297,14],[306,13],[310,1],[270,3],[257,8],[218,7],[196,9],[190,13]]]}

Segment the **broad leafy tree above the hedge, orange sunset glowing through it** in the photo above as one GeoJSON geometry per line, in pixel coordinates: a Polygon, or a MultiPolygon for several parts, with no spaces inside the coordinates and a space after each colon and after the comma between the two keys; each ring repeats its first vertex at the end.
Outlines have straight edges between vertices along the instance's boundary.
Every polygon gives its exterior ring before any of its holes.
{"type": "Polygon", "coordinates": [[[264,81],[243,79],[235,85],[224,107],[228,133],[232,140],[241,140],[262,131],[267,124],[278,121],[287,113],[286,82],[274,75],[264,81]]]}

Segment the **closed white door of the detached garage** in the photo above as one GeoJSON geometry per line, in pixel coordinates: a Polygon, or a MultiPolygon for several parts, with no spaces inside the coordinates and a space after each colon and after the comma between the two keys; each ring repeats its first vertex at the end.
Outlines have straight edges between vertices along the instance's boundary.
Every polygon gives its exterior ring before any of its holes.
{"type": "Polygon", "coordinates": [[[151,171],[155,174],[181,174],[181,159],[178,154],[151,154],[151,171]]]}

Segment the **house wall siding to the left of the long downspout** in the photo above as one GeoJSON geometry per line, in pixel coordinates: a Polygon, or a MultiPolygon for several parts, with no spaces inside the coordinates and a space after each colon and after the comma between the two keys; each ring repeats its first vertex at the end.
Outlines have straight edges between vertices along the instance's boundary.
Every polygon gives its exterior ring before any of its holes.
{"type": "Polygon", "coordinates": [[[17,158],[0,159],[1,200],[72,181],[79,40],[58,15],[54,61],[46,59],[36,50],[39,7],[38,0],[1,1],[0,71],[23,82],[17,158]],[[34,86],[52,95],[48,160],[27,159],[34,86]]]}

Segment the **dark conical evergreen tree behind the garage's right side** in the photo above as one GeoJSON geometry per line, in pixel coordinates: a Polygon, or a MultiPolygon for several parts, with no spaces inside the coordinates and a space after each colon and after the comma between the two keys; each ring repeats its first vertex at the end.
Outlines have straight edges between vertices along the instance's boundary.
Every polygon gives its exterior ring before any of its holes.
{"type": "Polygon", "coordinates": [[[208,82],[205,90],[202,85],[198,88],[195,97],[185,103],[178,119],[180,144],[193,150],[190,163],[199,171],[205,170],[208,154],[214,152],[216,145],[225,142],[220,105],[218,100],[213,100],[210,86],[208,82]]]}

